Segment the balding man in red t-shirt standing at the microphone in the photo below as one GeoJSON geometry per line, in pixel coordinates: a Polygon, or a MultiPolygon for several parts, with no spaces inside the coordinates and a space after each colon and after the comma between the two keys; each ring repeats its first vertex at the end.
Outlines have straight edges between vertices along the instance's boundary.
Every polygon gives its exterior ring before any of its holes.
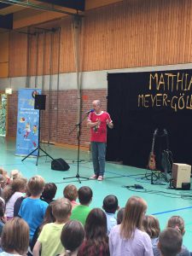
{"type": "Polygon", "coordinates": [[[105,172],[105,154],[107,143],[107,125],[113,128],[110,115],[102,111],[99,100],[92,102],[93,112],[89,114],[87,125],[90,127],[90,146],[92,152],[94,175],[91,179],[103,180],[105,172]]]}

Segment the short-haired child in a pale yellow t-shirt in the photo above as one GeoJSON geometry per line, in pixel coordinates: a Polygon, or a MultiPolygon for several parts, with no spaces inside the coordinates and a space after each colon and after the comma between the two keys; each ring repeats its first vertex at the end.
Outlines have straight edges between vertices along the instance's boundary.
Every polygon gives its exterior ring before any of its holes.
{"type": "Polygon", "coordinates": [[[32,250],[33,256],[38,256],[40,250],[41,256],[55,256],[64,251],[60,239],[61,230],[69,220],[71,211],[72,205],[66,198],[58,199],[53,203],[52,213],[55,217],[55,223],[44,225],[32,250]]]}

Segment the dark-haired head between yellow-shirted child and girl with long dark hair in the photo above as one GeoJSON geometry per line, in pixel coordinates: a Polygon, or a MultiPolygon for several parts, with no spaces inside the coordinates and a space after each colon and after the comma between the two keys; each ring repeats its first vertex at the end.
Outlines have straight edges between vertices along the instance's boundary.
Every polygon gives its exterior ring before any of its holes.
{"type": "Polygon", "coordinates": [[[84,226],[77,220],[70,220],[63,226],[61,244],[67,253],[73,253],[84,241],[84,226]]]}

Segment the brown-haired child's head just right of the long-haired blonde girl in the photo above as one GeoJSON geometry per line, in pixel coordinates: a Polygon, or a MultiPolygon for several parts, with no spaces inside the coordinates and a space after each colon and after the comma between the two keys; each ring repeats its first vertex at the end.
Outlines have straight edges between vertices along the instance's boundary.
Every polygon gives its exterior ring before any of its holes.
{"type": "Polygon", "coordinates": [[[155,238],[160,235],[160,222],[158,218],[155,218],[152,215],[144,216],[143,228],[150,238],[155,238]]]}

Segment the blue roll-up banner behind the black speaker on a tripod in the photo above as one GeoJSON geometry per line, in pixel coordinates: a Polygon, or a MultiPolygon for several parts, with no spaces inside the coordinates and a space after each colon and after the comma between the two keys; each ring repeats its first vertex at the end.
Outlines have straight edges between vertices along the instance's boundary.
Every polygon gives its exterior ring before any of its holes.
{"type": "MultiPolygon", "coordinates": [[[[17,155],[27,155],[38,148],[39,110],[34,109],[36,94],[41,94],[41,90],[19,90],[15,152],[17,155]]],[[[32,155],[38,155],[38,150],[32,155]]]]}

